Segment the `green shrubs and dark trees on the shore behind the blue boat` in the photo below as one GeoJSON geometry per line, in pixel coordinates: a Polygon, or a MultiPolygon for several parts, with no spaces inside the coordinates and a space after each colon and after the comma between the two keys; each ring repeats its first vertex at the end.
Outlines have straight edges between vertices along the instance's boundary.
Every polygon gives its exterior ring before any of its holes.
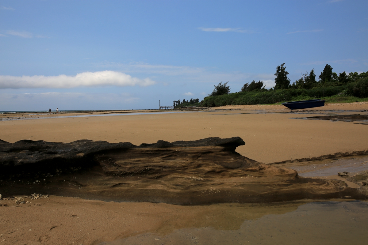
{"type": "Polygon", "coordinates": [[[284,101],[311,100],[323,98],[326,102],[355,102],[368,100],[368,71],[357,73],[332,72],[326,64],[316,80],[314,69],[302,73],[301,78],[290,84],[285,63],[277,66],[275,86],[266,89],[263,81],[245,83],[240,92],[230,93],[226,83],[215,86],[208,97],[201,101],[204,107],[224,105],[277,104],[284,101]]]}

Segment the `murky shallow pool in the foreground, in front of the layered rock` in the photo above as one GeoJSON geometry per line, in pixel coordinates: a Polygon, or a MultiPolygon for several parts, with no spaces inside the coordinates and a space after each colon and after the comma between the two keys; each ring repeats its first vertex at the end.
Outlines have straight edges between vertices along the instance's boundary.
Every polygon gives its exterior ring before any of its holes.
{"type": "Polygon", "coordinates": [[[169,234],[145,233],[100,245],[366,244],[367,220],[368,202],[312,202],[292,212],[246,219],[236,230],[181,228],[169,234]]]}

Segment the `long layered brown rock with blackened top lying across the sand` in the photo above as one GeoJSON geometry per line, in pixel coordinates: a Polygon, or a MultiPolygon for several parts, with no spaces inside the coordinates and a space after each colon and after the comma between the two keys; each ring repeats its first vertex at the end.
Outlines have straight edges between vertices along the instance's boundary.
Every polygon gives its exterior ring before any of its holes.
{"type": "Polygon", "coordinates": [[[91,140],[0,141],[0,193],[180,205],[367,199],[365,186],[304,178],[295,170],[246,158],[235,151],[244,144],[240,137],[139,146],[91,140]]]}

